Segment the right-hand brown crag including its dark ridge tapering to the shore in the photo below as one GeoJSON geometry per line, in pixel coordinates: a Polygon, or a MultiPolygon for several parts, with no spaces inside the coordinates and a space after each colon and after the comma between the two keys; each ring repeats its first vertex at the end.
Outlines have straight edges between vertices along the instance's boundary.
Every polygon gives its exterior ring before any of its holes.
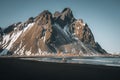
{"type": "Polygon", "coordinates": [[[99,53],[107,53],[98,43],[95,42],[90,28],[82,19],[76,20],[71,24],[70,32],[73,33],[81,42],[86,45],[90,45],[99,53]]]}

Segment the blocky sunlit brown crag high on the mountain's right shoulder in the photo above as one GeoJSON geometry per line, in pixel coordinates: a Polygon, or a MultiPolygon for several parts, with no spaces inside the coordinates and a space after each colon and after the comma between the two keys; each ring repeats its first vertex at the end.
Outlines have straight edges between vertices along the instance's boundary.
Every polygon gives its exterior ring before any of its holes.
{"type": "Polygon", "coordinates": [[[88,25],[82,19],[76,20],[71,26],[71,32],[85,44],[95,45],[95,40],[88,25]]]}

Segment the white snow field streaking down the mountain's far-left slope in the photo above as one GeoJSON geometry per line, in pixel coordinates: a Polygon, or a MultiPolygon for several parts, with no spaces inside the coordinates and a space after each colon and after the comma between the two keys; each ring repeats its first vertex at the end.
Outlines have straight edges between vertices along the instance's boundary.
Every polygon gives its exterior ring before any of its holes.
{"type": "MultiPolygon", "coordinates": [[[[11,32],[10,34],[5,34],[3,36],[2,42],[4,50],[0,53],[0,55],[6,55],[10,48],[13,46],[13,43],[18,39],[18,37],[29,30],[33,25],[34,23],[30,23],[23,30],[20,31],[16,31],[17,28],[14,28],[13,32],[11,32]]],[[[20,47],[18,47],[18,49],[14,53],[17,53],[19,49],[20,47]]]]}

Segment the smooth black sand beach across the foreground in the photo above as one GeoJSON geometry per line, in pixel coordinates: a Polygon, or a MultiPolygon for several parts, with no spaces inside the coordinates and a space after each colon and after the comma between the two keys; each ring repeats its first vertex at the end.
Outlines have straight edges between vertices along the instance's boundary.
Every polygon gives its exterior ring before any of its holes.
{"type": "Polygon", "coordinates": [[[120,67],[0,58],[0,80],[120,80],[120,67]]]}

